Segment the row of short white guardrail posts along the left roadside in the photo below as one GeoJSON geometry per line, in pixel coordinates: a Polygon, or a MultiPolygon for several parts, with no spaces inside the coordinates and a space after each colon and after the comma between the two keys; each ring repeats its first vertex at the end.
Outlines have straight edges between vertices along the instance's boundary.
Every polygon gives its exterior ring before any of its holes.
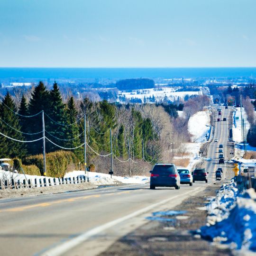
{"type": "Polygon", "coordinates": [[[57,186],[62,184],[77,184],[86,182],[85,175],[77,175],[67,178],[33,178],[33,179],[18,179],[15,180],[5,179],[0,180],[0,189],[20,189],[20,188],[38,188],[38,187],[48,187],[48,186],[57,186]]]}

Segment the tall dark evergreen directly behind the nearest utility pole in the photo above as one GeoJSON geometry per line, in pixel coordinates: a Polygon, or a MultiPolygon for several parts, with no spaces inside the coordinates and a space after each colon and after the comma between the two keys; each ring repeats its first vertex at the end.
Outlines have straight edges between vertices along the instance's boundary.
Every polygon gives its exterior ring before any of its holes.
{"type": "MultiPolygon", "coordinates": [[[[32,97],[28,104],[28,113],[29,115],[35,115],[41,110],[44,110],[46,113],[49,113],[50,109],[50,100],[49,100],[49,91],[46,90],[46,86],[43,82],[39,82],[32,92],[32,97]]],[[[49,119],[45,116],[45,128],[48,130],[47,123],[49,119]]],[[[33,118],[27,120],[27,128],[30,133],[36,133],[42,131],[42,115],[37,115],[33,118]]],[[[49,129],[50,130],[50,129],[49,129]]],[[[33,139],[42,137],[42,134],[31,136],[33,139]]],[[[43,142],[42,140],[36,141],[29,145],[28,151],[31,155],[42,154],[43,152],[43,142]]]]}

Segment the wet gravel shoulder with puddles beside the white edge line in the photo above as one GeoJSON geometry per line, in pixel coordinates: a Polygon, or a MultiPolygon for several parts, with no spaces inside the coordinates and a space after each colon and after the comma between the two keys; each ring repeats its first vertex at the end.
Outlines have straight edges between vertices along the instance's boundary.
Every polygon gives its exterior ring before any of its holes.
{"type": "Polygon", "coordinates": [[[222,182],[210,184],[170,210],[186,211],[176,216],[162,216],[162,220],[151,220],[146,225],[119,239],[100,256],[170,256],[170,255],[232,255],[229,248],[216,245],[193,235],[193,230],[206,224],[207,212],[204,206],[222,182]],[[163,220],[166,219],[166,220],[163,220]],[[173,219],[173,220],[171,220],[173,219]]]}

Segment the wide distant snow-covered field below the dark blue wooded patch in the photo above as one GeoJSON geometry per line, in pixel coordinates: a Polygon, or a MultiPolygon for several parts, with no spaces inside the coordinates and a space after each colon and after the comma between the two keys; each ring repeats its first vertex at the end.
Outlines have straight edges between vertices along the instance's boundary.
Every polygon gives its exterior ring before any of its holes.
{"type": "Polygon", "coordinates": [[[119,91],[119,96],[125,95],[127,99],[138,98],[143,102],[144,97],[149,98],[154,95],[155,101],[163,100],[165,95],[170,101],[177,100],[178,97],[184,99],[185,95],[201,95],[201,91],[175,91],[174,88],[162,87],[161,91],[156,91],[154,88],[144,89],[144,90],[133,90],[132,92],[121,92],[119,91]]]}

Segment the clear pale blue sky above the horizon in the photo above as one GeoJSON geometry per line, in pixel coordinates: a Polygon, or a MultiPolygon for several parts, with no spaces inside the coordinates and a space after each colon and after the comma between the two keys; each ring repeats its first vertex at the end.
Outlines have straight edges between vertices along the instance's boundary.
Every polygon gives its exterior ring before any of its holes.
{"type": "Polygon", "coordinates": [[[256,66],[256,0],[0,0],[0,67],[256,66]]]}

